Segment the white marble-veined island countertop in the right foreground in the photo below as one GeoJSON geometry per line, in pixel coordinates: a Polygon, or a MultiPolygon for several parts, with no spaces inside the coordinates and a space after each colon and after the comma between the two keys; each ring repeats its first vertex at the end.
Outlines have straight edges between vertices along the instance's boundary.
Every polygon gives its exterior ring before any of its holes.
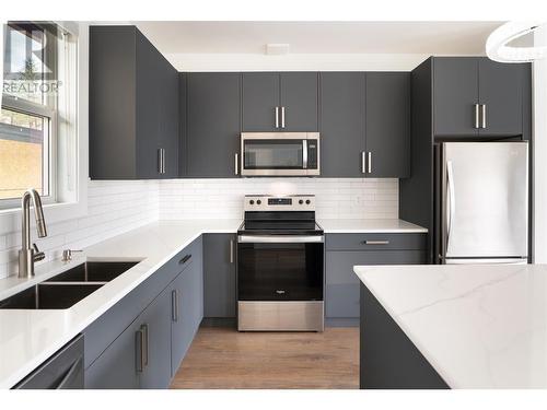
{"type": "Polygon", "coordinates": [[[547,265],[354,271],[449,386],[547,388],[547,265]]]}

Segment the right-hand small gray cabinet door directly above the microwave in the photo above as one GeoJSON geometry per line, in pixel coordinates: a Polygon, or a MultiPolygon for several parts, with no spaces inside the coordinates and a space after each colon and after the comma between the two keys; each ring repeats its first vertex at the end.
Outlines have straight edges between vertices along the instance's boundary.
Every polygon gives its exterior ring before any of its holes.
{"type": "Polygon", "coordinates": [[[284,112],[282,130],[317,131],[317,73],[283,72],[280,78],[281,107],[284,112]]]}

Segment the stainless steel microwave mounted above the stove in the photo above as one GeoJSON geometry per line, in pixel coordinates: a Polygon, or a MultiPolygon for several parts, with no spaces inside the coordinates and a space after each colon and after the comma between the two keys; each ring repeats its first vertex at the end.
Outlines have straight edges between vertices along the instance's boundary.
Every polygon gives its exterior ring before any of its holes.
{"type": "Polygon", "coordinates": [[[242,132],[241,175],[319,175],[318,132],[242,132]]]}

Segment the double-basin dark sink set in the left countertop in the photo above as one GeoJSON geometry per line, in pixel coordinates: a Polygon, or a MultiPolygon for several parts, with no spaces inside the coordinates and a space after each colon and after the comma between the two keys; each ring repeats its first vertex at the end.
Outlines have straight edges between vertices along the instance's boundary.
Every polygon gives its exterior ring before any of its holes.
{"type": "Polygon", "coordinates": [[[138,261],[88,261],[0,301],[0,309],[66,309],[138,261]]]}

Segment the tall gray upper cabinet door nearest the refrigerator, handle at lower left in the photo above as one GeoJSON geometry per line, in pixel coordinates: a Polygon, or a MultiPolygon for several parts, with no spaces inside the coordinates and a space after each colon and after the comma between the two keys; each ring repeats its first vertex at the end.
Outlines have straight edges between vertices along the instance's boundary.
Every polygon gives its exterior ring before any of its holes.
{"type": "Polygon", "coordinates": [[[409,177],[410,73],[366,73],[365,107],[366,176],[409,177]]]}

